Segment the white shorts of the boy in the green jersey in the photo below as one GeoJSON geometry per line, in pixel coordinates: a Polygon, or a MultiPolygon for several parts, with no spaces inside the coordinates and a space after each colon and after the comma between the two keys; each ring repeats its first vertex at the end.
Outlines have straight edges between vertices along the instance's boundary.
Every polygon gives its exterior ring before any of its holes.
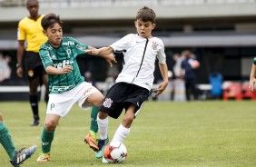
{"type": "Polygon", "coordinates": [[[70,109],[77,103],[83,110],[92,106],[90,103],[84,103],[87,97],[97,90],[91,83],[80,83],[72,90],[64,93],[49,94],[49,101],[47,104],[46,113],[54,113],[59,116],[65,116],[69,113],[70,109]]]}

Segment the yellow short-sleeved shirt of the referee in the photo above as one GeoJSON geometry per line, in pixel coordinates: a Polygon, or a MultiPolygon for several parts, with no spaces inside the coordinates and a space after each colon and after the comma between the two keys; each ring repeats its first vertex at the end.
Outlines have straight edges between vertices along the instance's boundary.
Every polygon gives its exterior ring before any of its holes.
{"type": "Polygon", "coordinates": [[[25,17],[19,22],[17,40],[26,41],[26,51],[39,52],[42,44],[47,41],[47,37],[43,34],[43,27],[41,26],[41,20],[44,15],[34,21],[29,17],[25,17]]]}

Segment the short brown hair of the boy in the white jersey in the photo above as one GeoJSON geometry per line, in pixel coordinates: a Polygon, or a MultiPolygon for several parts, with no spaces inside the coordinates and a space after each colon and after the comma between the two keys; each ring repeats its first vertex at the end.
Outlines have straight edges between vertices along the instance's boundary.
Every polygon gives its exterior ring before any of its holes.
{"type": "Polygon", "coordinates": [[[143,6],[143,8],[141,8],[137,15],[136,15],[136,19],[142,19],[143,22],[152,22],[154,24],[155,22],[155,13],[153,12],[153,9],[147,7],[147,6],[143,6]]]}

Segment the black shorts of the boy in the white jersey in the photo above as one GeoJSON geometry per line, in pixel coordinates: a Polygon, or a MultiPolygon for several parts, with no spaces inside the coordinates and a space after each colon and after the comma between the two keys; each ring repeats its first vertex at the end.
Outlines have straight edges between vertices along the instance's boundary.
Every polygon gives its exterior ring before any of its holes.
{"type": "Polygon", "coordinates": [[[150,92],[132,83],[115,83],[107,92],[100,111],[108,113],[113,118],[118,118],[125,109],[134,104],[135,116],[139,113],[143,103],[148,99],[150,92]]]}

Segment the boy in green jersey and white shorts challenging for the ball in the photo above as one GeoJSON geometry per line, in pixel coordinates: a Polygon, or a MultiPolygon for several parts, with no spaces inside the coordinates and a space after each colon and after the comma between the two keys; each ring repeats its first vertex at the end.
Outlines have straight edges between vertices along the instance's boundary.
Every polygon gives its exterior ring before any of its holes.
{"type": "MultiPolygon", "coordinates": [[[[39,54],[48,74],[50,95],[42,132],[42,153],[37,162],[48,162],[60,118],[69,113],[74,103],[82,109],[86,109],[88,104],[99,107],[103,103],[103,94],[84,81],[76,62],[77,55],[93,47],[81,44],[72,37],[63,37],[62,21],[57,15],[45,15],[41,25],[48,41],[41,46],[39,54]]],[[[111,65],[115,62],[113,54],[102,57],[111,65]]]]}

